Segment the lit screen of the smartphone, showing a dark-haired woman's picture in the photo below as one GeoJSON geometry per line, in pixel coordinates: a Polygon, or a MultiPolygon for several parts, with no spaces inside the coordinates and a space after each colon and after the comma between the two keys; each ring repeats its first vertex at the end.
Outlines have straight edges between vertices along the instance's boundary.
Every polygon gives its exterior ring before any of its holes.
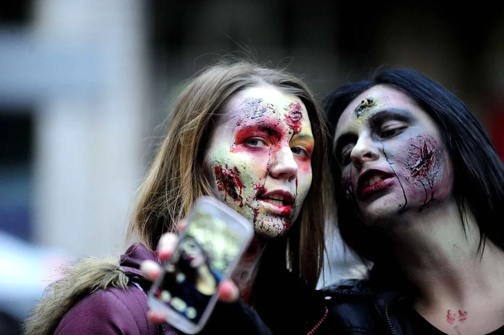
{"type": "Polygon", "coordinates": [[[195,212],[154,297],[191,322],[198,323],[228,275],[245,237],[219,218],[195,212]]]}

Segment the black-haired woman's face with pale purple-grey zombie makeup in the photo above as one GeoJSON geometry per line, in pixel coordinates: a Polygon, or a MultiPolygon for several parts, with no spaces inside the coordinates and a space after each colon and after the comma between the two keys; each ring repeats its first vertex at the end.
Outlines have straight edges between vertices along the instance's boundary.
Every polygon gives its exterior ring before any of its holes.
{"type": "Polygon", "coordinates": [[[345,195],[370,225],[451,195],[451,161],[434,121],[394,88],[374,86],[352,101],[335,139],[345,195]]]}

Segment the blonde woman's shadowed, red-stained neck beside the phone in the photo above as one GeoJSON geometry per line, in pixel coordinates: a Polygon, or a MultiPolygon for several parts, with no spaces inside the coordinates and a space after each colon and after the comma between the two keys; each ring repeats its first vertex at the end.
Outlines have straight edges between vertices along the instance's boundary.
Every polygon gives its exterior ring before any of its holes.
{"type": "Polygon", "coordinates": [[[240,296],[246,304],[251,304],[250,293],[256,282],[261,256],[266,247],[266,240],[255,235],[249,247],[241,256],[231,279],[238,286],[240,296]]]}

